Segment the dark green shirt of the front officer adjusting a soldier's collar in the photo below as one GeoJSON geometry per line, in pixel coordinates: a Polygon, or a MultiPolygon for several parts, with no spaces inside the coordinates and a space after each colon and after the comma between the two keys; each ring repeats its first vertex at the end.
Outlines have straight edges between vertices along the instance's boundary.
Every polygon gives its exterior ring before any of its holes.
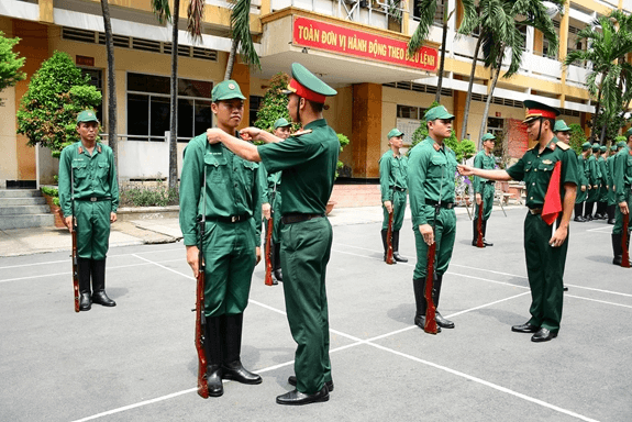
{"type": "Polygon", "coordinates": [[[282,170],[281,215],[324,215],[340,154],[337,136],[324,119],[307,124],[302,134],[257,149],[268,171],[282,170]]]}

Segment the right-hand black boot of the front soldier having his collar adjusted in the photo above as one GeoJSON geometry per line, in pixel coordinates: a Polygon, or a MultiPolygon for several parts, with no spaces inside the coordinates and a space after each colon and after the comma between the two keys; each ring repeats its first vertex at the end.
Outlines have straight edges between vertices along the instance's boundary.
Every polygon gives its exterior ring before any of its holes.
{"type": "Polygon", "coordinates": [[[222,364],[222,378],[232,379],[242,384],[262,384],[262,377],[248,371],[242,365],[242,326],[244,314],[222,315],[222,336],[224,338],[224,359],[222,364]]]}

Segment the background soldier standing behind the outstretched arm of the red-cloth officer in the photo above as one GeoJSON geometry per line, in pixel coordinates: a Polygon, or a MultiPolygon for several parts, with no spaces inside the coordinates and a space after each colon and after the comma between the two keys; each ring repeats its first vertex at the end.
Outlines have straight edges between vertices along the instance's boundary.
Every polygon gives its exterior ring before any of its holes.
{"type": "MultiPolygon", "coordinates": [[[[494,170],[496,168],[496,158],[494,157],[492,151],[496,145],[496,136],[491,133],[486,133],[483,135],[483,149],[476,154],[474,157],[474,167],[483,168],[487,170],[494,170]]],[[[480,177],[475,177],[473,188],[476,192],[476,211],[474,213],[474,229],[472,237],[472,246],[476,246],[478,240],[478,208],[483,204],[483,244],[485,246],[494,246],[492,243],[487,242],[485,238],[487,232],[487,220],[491,215],[491,209],[494,208],[494,192],[496,181],[483,179],[480,177]]]]}

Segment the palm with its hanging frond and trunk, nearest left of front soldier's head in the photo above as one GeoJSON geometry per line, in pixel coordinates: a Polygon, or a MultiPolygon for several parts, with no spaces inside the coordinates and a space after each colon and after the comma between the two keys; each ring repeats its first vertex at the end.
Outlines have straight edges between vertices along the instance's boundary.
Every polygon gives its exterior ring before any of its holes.
{"type": "Polygon", "coordinates": [[[153,0],[152,9],[159,23],[171,22],[171,96],[169,124],[169,189],[178,187],[178,21],[180,19],[180,0],[174,0],[174,16],[168,0],[153,0]]]}

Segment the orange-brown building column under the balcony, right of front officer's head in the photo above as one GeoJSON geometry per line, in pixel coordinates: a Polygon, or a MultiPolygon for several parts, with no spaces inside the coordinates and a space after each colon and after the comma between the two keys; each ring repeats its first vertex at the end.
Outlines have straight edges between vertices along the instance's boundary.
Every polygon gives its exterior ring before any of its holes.
{"type": "Polygon", "coordinates": [[[381,85],[353,86],[352,119],[352,175],[363,179],[377,178],[381,144],[381,85]]]}

